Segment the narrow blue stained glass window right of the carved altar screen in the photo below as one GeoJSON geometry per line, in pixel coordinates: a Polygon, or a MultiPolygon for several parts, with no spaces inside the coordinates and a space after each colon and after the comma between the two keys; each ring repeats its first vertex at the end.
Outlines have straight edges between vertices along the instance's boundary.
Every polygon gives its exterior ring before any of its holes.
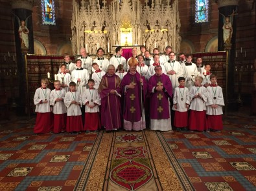
{"type": "Polygon", "coordinates": [[[208,22],[209,0],[196,0],[195,23],[208,22]]]}

